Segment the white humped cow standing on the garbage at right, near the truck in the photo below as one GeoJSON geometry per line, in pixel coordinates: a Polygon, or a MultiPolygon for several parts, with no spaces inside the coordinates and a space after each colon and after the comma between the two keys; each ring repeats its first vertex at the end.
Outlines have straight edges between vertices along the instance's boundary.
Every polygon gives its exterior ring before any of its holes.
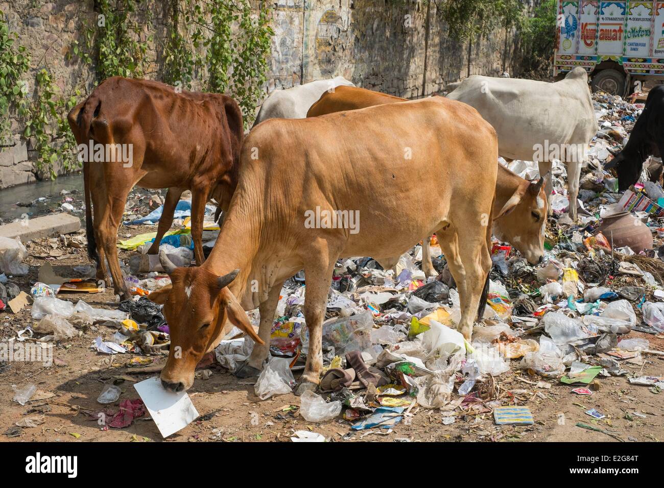
{"type": "MultiPolygon", "coordinates": [[[[569,214],[576,220],[581,165],[597,131],[586,71],[574,68],[556,83],[469,76],[454,85],[448,98],[474,107],[493,125],[501,156],[537,161],[540,175],[550,171],[552,159],[566,163],[569,214]]],[[[547,199],[551,191],[548,179],[547,199]]]]}

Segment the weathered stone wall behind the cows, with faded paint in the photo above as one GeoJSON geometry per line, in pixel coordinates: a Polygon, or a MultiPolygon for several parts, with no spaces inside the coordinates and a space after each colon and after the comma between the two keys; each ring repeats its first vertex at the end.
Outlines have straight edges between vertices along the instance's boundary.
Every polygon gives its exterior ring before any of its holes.
{"type": "MultiPolygon", "coordinates": [[[[143,7],[152,13],[151,25],[143,29],[145,39],[148,32],[155,38],[147,52],[150,78],[159,79],[159,44],[168,33],[167,4],[148,0],[143,7]]],[[[396,7],[391,0],[273,0],[269,5],[275,35],[266,93],[341,75],[358,86],[418,98],[468,74],[513,72],[511,33],[452,41],[435,3],[427,8],[416,1],[396,7]]],[[[72,42],[82,41],[82,25],[96,19],[94,0],[0,0],[0,10],[31,53],[29,88],[34,88],[35,74],[44,67],[63,94],[76,88],[87,94],[94,88],[90,67],[66,59],[72,42]]],[[[19,136],[20,123],[13,121],[12,129],[13,144],[0,147],[0,188],[35,181],[31,141],[19,136]]]]}

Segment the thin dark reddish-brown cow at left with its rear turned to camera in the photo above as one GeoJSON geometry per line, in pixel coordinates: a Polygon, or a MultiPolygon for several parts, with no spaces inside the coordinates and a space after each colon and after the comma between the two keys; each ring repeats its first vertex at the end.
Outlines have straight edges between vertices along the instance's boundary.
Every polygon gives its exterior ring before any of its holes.
{"type": "Polygon", "coordinates": [[[159,242],[173,223],[175,206],[182,193],[191,190],[191,236],[196,261],[201,264],[205,260],[201,242],[205,204],[214,197],[222,209],[228,208],[237,181],[243,136],[238,104],[226,95],[177,94],[163,83],[114,76],[74,107],[68,122],[79,145],[88,146],[92,141],[111,148],[102,161],[83,163],[88,255],[97,262],[97,278],[110,285],[108,260],[114,291],[129,297],[116,239],[134,185],[169,189],[149,254],[159,252],[159,242]],[[132,156],[131,161],[122,159],[121,147],[132,156]]]}

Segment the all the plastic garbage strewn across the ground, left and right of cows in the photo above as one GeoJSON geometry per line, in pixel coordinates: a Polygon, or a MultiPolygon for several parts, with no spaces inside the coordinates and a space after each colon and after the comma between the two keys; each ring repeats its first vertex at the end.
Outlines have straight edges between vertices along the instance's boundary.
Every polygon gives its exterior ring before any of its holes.
{"type": "MultiPolygon", "coordinates": [[[[396,273],[384,270],[370,257],[337,262],[323,323],[320,384],[315,391],[303,392],[299,400],[299,414],[307,422],[343,419],[352,432],[371,428],[390,432],[396,424],[409,422],[418,409],[435,409],[443,412],[443,424],[454,424],[468,413],[491,413],[497,425],[533,424],[536,419],[527,405],[499,393],[501,376],[513,372],[542,388],[567,384],[570,394],[595,394],[602,378],[610,376],[625,376],[653,393],[664,389],[664,372],[644,376],[625,366],[642,355],[664,355],[651,348],[647,339],[625,338],[631,331],[653,338],[664,334],[664,190],[661,182],[649,181],[644,173],[637,185],[618,193],[616,177],[604,171],[604,164],[611,159],[609,149],[625,142],[643,105],[605,94],[594,94],[593,100],[598,131],[582,173],[578,221],[572,222],[567,214],[565,167],[554,163],[544,260],[531,266],[509,243],[493,242],[487,304],[470,342],[456,330],[461,316],[459,293],[435,236],[430,242],[439,273],[435,278],[426,278],[422,272],[419,244],[400,258],[396,273]]],[[[501,163],[526,179],[539,178],[536,163],[501,163]]],[[[131,195],[124,225],[156,225],[162,203],[160,195],[149,199],[131,195]]],[[[178,266],[193,261],[189,214],[191,204],[181,201],[176,230],[161,241],[160,249],[178,266]]],[[[219,229],[213,214],[214,208],[208,208],[203,236],[208,250],[219,229]]],[[[167,355],[169,325],[161,305],[145,296],[170,283],[158,256],[147,254],[155,232],[131,236],[121,231],[121,236],[125,240],[118,246],[134,253],[120,262],[133,298],[118,303],[116,310],[92,307],[84,300],[74,304],[62,299],[62,293],[104,291],[103,283],[88,280],[94,276],[92,267],[74,267],[82,278],[70,280],[57,276],[50,264],[44,265],[38,280],[31,282],[35,323],[19,331],[17,340],[66,342],[92,330],[96,336],[90,343],[92,350],[103,355],[133,353],[130,366],[144,366],[153,357],[167,355]],[[99,325],[110,328],[110,339],[97,335],[99,325]]],[[[85,245],[80,234],[49,241],[37,247],[29,244],[31,254],[41,250],[43,256],[53,258],[50,253],[62,244],[75,250],[85,245]]],[[[28,304],[11,302],[25,292],[9,280],[28,273],[27,254],[20,241],[0,240],[0,271],[5,273],[0,274],[0,310],[11,306],[14,311],[15,306],[28,304]]],[[[282,289],[270,359],[254,387],[260,400],[291,393],[297,386],[295,376],[303,370],[309,349],[305,293],[303,272],[282,289]]],[[[258,309],[247,313],[258,326],[258,309]]],[[[234,328],[214,357],[199,365],[196,377],[210,377],[212,371],[205,367],[211,361],[236,372],[252,348],[251,339],[234,328]]],[[[35,388],[17,390],[17,398],[25,403],[35,388]]],[[[146,410],[159,409],[159,382],[143,388],[147,389],[141,393],[142,400],[124,400],[120,412],[103,411],[113,419],[110,427],[128,426],[146,410]]],[[[182,395],[181,401],[188,403],[179,428],[198,416],[186,394],[182,395]]],[[[104,384],[98,402],[108,406],[119,396],[119,388],[104,384]]],[[[592,410],[586,414],[602,418],[602,412],[592,410]]],[[[295,442],[324,440],[308,431],[294,435],[295,442]]]]}

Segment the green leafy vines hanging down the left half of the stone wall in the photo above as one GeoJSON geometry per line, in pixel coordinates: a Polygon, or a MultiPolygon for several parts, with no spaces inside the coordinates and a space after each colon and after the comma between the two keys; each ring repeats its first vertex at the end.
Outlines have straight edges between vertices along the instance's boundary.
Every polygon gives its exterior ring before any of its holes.
{"type": "MultiPolygon", "coordinates": [[[[161,42],[157,78],[176,88],[229,94],[249,127],[267,80],[274,35],[270,10],[260,4],[256,10],[250,0],[168,0],[167,35],[155,41],[152,8],[159,3],[98,0],[96,19],[83,25],[66,58],[90,66],[98,82],[110,76],[143,78],[152,74],[147,53],[161,42]]],[[[11,143],[10,116],[16,116],[25,123],[23,137],[37,153],[35,168],[55,178],[58,162],[65,171],[80,167],[66,114],[80,101],[81,91],[61,93],[46,66],[35,75],[30,98],[21,79],[30,68],[30,56],[17,39],[0,12],[0,143],[11,143]]]]}

